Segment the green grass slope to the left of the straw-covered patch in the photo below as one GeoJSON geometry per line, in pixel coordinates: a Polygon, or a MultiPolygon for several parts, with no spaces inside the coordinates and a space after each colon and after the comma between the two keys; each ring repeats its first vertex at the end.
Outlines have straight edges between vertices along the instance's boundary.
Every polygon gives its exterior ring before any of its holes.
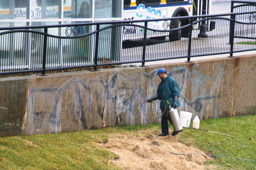
{"type": "Polygon", "coordinates": [[[93,131],[0,138],[0,169],[120,169],[104,142],[93,131]]]}

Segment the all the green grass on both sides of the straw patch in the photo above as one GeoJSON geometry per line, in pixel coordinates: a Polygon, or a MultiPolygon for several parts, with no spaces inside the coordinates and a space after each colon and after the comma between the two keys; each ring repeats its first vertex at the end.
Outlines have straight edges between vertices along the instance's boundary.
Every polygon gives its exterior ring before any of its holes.
{"type": "MultiPolygon", "coordinates": [[[[0,169],[120,169],[109,162],[118,159],[118,155],[97,143],[107,143],[110,134],[145,129],[158,134],[160,127],[160,124],[150,124],[0,138],[0,169]]],[[[213,164],[218,169],[256,169],[256,162],[242,160],[256,160],[256,116],[204,120],[200,122],[200,129],[235,136],[184,128],[177,138],[180,142],[211,155],[236,157],[218,157],[205,164],[213,164]]]]}

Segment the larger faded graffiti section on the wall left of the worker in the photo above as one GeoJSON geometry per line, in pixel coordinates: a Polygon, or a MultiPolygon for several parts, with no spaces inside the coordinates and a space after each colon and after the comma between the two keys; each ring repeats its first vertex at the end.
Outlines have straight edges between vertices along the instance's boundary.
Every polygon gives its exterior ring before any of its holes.
{"type": "Polygon", "coordinates": [[[72,77],[61,87],[29,89],[29,134],[147,124],[145,100],[143,87],[122,72],[107,81],[72,77]]]}

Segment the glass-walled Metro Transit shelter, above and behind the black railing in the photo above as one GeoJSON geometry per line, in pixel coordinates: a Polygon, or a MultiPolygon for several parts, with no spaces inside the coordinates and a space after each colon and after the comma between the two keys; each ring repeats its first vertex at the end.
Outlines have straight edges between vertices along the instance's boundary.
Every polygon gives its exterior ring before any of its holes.
{"type": "MultiPolygon", "coordinates": [[[[119,20],[122,16],[122,0],[0,0],[0,27],[83,24],[99,20],[119,20]]],[[[125,0],[125,6],[131,1],[125,0]]],[[[106,25],[100,25],[103,27],[106,25]]],[[[90,64],[94,57],[95,25],[77,25],[66,27],[52,27],[47,33],[54,36],[79,36],[77,38],[47,38],[47,53],[58,60],[58,64],[76,62],[90,64]],[[88,35],[85,35],[88,34],[88,35]],[[84,35],[84,36],[81,36],[84,35]],[[66,50],[70,44],[74,46],[66,50]],[[70,57],[71,56],[71,57],[70,57]],[[73,60],[74,59],[74,60],[73,60]]],[[[29,67],[30,62],[40,64],[42,60],[42,46],[44,45],[45,28],[29,29],[32,32],[12,32],[0,36],[1,49],[13,59],[29,67]],[[36,31],[36,32],[34,32],[36,31]],[[40,32],[40,33],[38,33],[40,32]],[[19,45],[17,45],[19,43],[19,45]],[[22,50],[26,48],[26,52],[22,50]],[[20,55],[16,55],[16,54],[20,55]]],[[[120,56],[122,45],[122,27],[106,29],[99,34],[99,58],[102,60],[116,60],[113,56],[120,56]],[[107,36],[106,36],[107,35],[107,36]],[[107,48],[107,50],[106,50],[107,48]]],[[[6,55],[6,57],[8,57],[6,55]]],[[[15,65],[15,60],[10,65],[15,65]]],[[[4,57],[0,63],[4,62],[4,57]]],[[[47,64],[52,61],[46,59],[47,64]]]]}

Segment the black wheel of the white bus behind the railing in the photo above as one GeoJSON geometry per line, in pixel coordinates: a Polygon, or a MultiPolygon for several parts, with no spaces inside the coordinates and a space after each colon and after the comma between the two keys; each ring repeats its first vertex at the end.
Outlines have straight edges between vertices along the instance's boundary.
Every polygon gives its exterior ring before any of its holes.
{"type": "MultiPolygon", "coordinates": [[[[170,30],[181,27],[182,23],[180,20],[172,20],[170,22],[170,30]]],[[[169,33],[170,41],[178,41],[181,39],[181,29],[170,31],[169,33]]]]}

